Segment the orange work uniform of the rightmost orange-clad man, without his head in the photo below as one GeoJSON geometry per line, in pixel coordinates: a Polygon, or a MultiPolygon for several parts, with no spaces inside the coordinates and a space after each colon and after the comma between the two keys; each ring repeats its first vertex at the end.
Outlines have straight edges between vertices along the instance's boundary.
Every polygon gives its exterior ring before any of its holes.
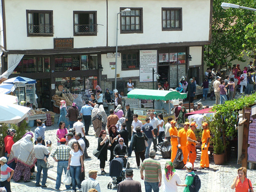
{"type": "Polygon", "coordinates": [[[201,161],[200,161],[201,167],[209,167],[209,156],[208,156],[209,143],[206,148],[204,147],[207,141],[207,138],[210,138],[210,131],[208,129],[203,130],[203,133],[202,133],[202,146],[201,146],[202,153],[201,153],[201,161]]]}

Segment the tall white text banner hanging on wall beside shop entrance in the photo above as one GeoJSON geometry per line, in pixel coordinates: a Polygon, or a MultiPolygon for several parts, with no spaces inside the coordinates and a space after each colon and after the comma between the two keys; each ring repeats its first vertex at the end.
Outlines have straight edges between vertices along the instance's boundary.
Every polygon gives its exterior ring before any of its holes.
{"type": "Polygon", "coordinates": [[[140,51],[140,82],[153,81],[153,68],[155,70],[154,81],[156,81],[157,50],[140,51]]]}

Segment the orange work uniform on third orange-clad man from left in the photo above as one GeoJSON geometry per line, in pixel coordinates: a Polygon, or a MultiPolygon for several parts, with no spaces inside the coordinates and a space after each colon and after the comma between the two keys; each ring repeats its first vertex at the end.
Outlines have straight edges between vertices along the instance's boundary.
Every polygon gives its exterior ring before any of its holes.
{"type": "MultiPolygon", "coordinates": [[[[196,135],[194,133],[194,131],[192,131],[191,129],[187,130],[187,137],[189,137],[190,139],[196,141],[196,135]]],[[[187,141],[187,151],[188,151],[188,162],[192,163],[193,167],[194,167],[194,162],[197,159],[197,152],[196,152],[196,143],[187,141]]]]}

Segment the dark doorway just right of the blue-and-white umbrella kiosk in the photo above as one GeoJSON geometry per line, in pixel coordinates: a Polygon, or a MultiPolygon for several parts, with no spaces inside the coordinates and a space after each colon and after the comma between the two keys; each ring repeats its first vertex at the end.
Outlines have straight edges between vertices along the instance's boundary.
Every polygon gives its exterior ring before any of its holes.
{"type": "Polygon", "coordinates": [[[38,108],[51,110],[51,79],[37,79],[36,82],[38,108]]]}

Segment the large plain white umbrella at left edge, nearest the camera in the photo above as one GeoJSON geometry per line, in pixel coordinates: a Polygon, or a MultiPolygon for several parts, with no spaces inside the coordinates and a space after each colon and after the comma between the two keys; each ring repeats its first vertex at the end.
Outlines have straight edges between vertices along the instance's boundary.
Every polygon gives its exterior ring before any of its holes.
{"type": "Polygon", "coordinates": [[[18,123],[25,119],[30,108],[17,104],[0,103],[0,123],[18,123]]]}

